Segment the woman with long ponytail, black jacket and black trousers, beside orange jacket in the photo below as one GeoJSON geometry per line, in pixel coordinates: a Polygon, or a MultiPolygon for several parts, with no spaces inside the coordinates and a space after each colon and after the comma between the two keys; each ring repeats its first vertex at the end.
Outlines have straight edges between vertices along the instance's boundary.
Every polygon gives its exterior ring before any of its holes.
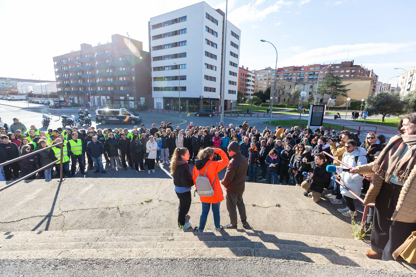
{"type": "Polygon", "coordinates": [[[179,199],[178,228],[186,229],[191,223],[185,222],[185,216],[191,207],[191,187],[193,186],[192,174],[188,167],[188,148],[176,148],[171,158],[171,174],[176,195],[179,199]]]}

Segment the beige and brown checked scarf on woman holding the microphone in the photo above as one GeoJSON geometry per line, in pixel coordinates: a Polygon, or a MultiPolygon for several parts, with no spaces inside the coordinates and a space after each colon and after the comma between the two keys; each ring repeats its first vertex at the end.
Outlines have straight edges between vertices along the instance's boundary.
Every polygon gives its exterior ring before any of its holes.
{"type": "Polygon", "coordinates": [[[404,183],[414,168],[415,162],[416,135],[396,135],[381,151],[374,163],[373,172],[386,182],[390,182],[391,175],[394,175],[397,181],[404,183]],[[400,159],[406,146],[410,148],[400,159]]]}

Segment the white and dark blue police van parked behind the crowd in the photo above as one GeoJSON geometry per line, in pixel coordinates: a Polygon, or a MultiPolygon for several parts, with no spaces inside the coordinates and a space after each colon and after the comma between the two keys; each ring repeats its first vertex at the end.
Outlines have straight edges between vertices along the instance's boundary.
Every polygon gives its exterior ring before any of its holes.
{"type": "Polygon", "coordinates": [[[95,110],[95,122],[106,123],[130,123],[136,124],[141,122],[140,115],[136,115],[133,112],[126,110],[125,108],[119,109],[97,109],[95,110]]]}

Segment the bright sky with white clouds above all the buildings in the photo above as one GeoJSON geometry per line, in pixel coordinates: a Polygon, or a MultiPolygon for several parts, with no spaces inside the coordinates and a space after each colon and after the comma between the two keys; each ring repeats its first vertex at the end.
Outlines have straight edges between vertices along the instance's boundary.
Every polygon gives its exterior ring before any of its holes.
{"type": "MultiPolygon", "coordinates": [[[[0,0],[0,76],[55,80],[53,56],[112,34],[129,32],[149,51],[149,18],[198,2],[0,0]]],[[[225,12],[225,0],[206,2],[225,12]]],[[[354,59],[385,82],[416,66],[415,9],[413,0],[228,0],[228,20],[241,30],[239,66],[275,67],[265,39],[277,67],[354,59]]]]}

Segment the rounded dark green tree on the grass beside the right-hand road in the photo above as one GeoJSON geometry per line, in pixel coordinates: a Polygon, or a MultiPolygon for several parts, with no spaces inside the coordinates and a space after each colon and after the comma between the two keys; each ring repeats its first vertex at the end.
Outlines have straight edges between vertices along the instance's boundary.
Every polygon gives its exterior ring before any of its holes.
{"type": "Polygon", "coordinates": [[[367,98],[365,110],[368,115],[383,115],[381,119],[384,122],[386,115],[399,116],[403,114],[406,103],[400,100],[400,94],[381,91],[367,98]]]}

